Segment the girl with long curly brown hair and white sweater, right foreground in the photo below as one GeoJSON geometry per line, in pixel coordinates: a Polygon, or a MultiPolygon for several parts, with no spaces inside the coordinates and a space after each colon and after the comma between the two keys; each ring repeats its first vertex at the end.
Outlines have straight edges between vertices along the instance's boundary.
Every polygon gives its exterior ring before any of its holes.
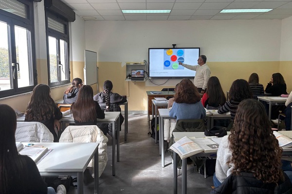
{"type": "Polygon", "coordinates": [[[281,170],[282,152],[262,103],[243,100],[230,135],[219,145],[213,176],[217,188],[211,193],[291,194],[292,184],[281,170]]]}

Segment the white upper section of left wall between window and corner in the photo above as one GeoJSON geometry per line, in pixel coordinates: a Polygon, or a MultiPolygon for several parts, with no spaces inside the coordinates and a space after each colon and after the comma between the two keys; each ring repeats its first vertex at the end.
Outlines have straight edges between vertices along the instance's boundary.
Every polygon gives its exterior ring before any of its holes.
{"type": "Polygon", "coordinates": [[[70,61],[84,62],[85,52],[85,21],[75,15],[74,22],[70,22],[70,61]]]}

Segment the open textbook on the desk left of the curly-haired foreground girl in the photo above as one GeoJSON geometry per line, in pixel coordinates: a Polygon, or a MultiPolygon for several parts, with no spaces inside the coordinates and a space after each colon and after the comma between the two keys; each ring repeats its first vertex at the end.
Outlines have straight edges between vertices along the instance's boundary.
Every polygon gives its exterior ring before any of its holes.
{"type": "Polygon", "coordinates": [[[178,140],[169,149],[175,151],[181,159],[205,152],[217,152],[219,145],[208,138],[183,137],[178,140]]]}

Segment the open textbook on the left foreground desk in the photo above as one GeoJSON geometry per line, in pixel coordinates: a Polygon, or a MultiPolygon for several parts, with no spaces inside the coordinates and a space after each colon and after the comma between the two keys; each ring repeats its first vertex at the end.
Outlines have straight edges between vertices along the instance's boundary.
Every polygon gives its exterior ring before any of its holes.
{"type": "Polygon", "coordinates": [[[29,156],[35,162],[48,151],[47,147],[42,146],[23,146],[21,143],[17,143],[16,146],[19,154],[29,156]]]}

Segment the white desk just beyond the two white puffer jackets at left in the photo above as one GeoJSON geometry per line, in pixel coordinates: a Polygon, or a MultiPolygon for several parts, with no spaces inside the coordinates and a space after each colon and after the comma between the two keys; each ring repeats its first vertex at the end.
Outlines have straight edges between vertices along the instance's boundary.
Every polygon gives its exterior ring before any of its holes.
{"type": "MultiPolygon", "coordinates": [[[[71,114],[63,116],[60,120],[62,129],[66,123],[75,123],[71,114]]],[[[105,112],[104,119],[96,119],[96,123],[112,123],[112,176],[115,176],[115,124],[117,122],[117,162],[120,161],[120,112],[105,112]]],[[[126,130],[125,130],[126,131],[126,130]]]]}

